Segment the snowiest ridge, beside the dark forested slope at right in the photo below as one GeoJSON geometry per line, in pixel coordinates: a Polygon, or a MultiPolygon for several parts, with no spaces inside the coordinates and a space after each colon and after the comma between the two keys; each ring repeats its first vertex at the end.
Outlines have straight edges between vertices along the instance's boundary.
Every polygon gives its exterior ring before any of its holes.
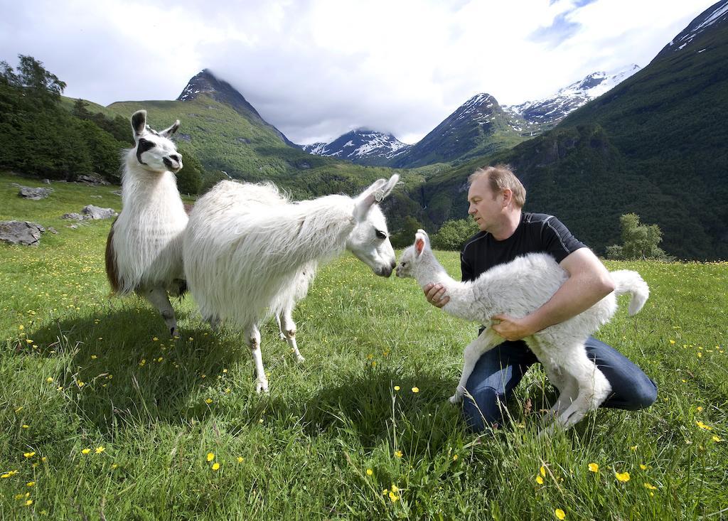
{"type": "Polygon", "coordinates": [[[612,90],[637,71],[639,65],[633,64],[616,73],[593,72],[584,79],[559,89],[555,95],[503,108],[507,112],[521,116],[529,125],[529,129],[534,132],[544,132],[553,128],[567,114],[612,90]]]}

